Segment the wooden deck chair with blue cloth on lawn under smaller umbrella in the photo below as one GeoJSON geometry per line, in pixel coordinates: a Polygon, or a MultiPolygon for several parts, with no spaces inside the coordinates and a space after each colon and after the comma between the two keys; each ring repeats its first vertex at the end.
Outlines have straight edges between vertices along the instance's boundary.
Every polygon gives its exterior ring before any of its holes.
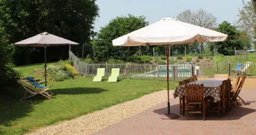
{"type": "Polygon", "coordinates": [[[41,94],[42,96],[48,99],[53,98],[53,93],[49,91],[50,87],[52,86],[44,87],[41,84],[37,83],[31,76],[23,78],[22,80],[18,80],[18,83],[20,83],[26,90],[21,100],[34,97],[37,94],[41,94]]]}

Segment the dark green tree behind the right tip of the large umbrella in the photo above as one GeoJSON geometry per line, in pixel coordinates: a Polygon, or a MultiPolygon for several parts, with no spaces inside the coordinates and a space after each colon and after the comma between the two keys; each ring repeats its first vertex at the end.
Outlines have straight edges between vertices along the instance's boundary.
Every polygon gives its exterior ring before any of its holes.
{"type": "Polygon", "coordinates": [[[223,21],[216,30],[229,35],[226,41],[215,43],[219,53],[233,55],[235,47],[236,49],[244,49],[246,47],[247,38],[244,37],[244,33],[236,30],[236,27],[232,26],[231,23],[223,21]]]}

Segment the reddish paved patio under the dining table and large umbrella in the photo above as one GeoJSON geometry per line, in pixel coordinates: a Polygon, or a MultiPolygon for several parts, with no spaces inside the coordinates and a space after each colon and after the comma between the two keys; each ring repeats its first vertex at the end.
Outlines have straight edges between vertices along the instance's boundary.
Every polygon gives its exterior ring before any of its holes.
{"type": "Polygon", "coordinates": [[[233,107],[230,112],[227,112],[221,118],[218,117],[217,113],[208,113],[205,121],[202,120],[201,114],[191,115],[190,120],[186,120],[185,116],[179,114],[179,99],[176,98],[171,100],[171,112],[180,115],[179,119],[161,119],[162,114],[167,112],[167,103],[163,102],[93,134],[255,135],[256,90],[243,90],[240,95],[247,101],[247,105],[233,107]]]}

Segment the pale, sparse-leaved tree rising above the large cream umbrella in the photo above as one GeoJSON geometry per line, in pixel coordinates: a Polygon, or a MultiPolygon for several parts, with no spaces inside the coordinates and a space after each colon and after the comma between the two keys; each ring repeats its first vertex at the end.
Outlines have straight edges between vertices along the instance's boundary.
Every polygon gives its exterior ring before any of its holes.
{"type": "MultiPolygon", "coordinates": [[[[177,20],[183,21],[185,23],[190,23],[197,25],[199,27],[205,28],[215,28],[217,18],[212,15],[212,13],[207,12],[204,9],[190,10],[187,9],[181,12],[178,16],[176,16],[177,20]]],[[[192,46],[191,46],[192,47],[192,46]]],[[[184,48],[184,45],[180,45],[180,48],[184,48]]],[[[183,50],[183,49],[178,49],[183,50]]],[[[201,53],[204,50],[203,44],[198,44],[196,48],[198,53],[201,53]]]]}

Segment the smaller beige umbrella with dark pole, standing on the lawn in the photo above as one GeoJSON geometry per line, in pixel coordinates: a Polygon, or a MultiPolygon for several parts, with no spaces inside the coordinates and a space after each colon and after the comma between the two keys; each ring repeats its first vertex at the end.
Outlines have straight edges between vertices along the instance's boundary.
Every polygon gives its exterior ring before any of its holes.
{"type": "Polygon", "coordinates": [[[29,37],[23,41],[16,42],[14,45],[18,47],[44,47],[44,76],[45,76],[45,86],[47,86],[46,82],[46,47],[48,46],[61,46],[61,45],[74,45],[78,44],[73,41],[69,41],[65,38],[55,36],[53,34],[49,34],[48,32],[44,32],[41,34],[37,34],[34,37],[29,37]]]}

